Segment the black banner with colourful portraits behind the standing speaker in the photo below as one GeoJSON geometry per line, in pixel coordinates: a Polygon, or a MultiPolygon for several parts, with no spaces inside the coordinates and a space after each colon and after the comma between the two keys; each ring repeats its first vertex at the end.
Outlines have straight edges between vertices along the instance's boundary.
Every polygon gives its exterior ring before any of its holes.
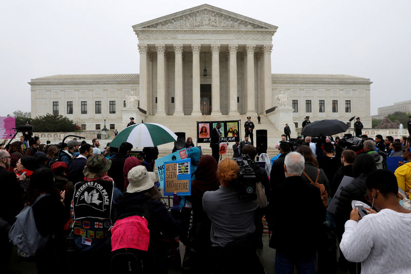
{"type": "Polygon", "coordinates": [[[240,121],[197,121],[197,142],[209,143],[210,131],[214,129],[217,123],[221,123],[221,142],[235,142],[240,141],[240,121]]]}

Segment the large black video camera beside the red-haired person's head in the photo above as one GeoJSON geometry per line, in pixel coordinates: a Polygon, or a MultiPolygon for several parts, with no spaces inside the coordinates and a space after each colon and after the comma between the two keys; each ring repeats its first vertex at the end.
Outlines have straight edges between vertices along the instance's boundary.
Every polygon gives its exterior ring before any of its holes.
{"type": "Polygon", "coordinates": [[[255,162],[248,155],[242,154],[241,157],[242,159],[233,159],[237,162],[239,168],[235,187],[240,194],[239,198],[241,200],[255,200],[257,199],[257,194],[255,193],[257,178],[253,169],[255,162]]]}

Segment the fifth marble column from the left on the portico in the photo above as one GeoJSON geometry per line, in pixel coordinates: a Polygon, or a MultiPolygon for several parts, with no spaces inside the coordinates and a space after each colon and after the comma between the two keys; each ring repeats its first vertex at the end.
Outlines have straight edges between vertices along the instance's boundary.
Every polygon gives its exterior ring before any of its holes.
{"type": "Polygon", "coordinates": [[[220,111],[220,44],[211,45],[212,75],[211,75],[211,106],[212,115],[221,115],[220,111]]]}

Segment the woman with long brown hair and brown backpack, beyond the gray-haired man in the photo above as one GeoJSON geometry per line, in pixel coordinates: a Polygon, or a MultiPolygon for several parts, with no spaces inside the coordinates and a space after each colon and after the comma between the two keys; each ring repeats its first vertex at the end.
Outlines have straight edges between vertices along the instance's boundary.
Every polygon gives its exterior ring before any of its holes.
{"type": "MultiPolygon", "coordinates": [[[[327,175],[325,174],[324,170],[319,168],[318,161],[315,158],[314,154],[312,154],[312,151],[307,145],[300,145],[296,152],[300,153],[304,157],[304,173],[301,174],[301,178],[305,181],[308,182],[308,184],[311,183],[311,181],[308,179],[308,177],[311,178],[312,181],[315,181],[315,178],[318,176],[318,181],[319,184],[323,184],[325,187],[325,190],[327,193],[330,193],[330,184],[327,178],[327,175]],[[319,173],[320,170],[320,173],[319,173]],[[308,177],[307,177],[308,175],[308,177]]],[[[329,194],[331,196],[331,194],[329,194]]]]}

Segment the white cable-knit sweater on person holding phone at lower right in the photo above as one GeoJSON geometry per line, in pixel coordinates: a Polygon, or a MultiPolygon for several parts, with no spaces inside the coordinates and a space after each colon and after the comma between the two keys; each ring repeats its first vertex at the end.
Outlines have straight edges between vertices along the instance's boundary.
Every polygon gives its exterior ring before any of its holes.
{"type": "Polygon", "coordinates": [[[350,262],[361,262],[361,274],[411,273],[411,213],[383,209],[358,223],[348,220],[340,243],[350,262]]]}

